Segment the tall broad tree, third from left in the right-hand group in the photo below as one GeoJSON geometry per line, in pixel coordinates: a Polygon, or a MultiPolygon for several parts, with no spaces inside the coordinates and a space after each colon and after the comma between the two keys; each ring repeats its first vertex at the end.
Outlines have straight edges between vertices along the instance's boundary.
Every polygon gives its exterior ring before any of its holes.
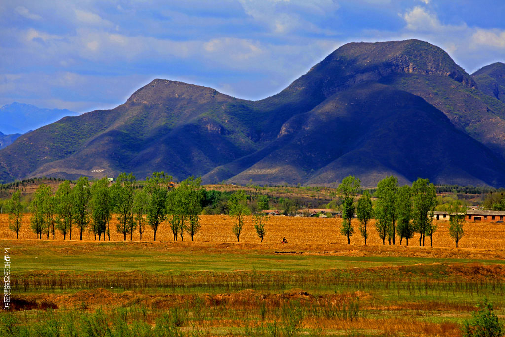
{"type": "Polygon", "coordinates": [[[377,198],[375,203],[375,229],[385,245],[386,236],[389,244],[394,245],[395,240],[395,220],[396,213],[394,208],[395,194],[398,188],[398,179],[395,176],[389,176],[377,183],[377,189],[374,196],[377,198]]]}

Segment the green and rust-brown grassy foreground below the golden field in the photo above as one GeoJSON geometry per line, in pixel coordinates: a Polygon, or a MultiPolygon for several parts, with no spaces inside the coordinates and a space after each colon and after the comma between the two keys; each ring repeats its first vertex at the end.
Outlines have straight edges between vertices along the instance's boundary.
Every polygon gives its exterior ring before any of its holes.
{"type": "Polygon", "coordinates": [[[0,328],[12,335],[457,336],[484,298],[505,318],[505,261],[494,251],[474,259],[343,245],[2,244],[14,303],[0,328]]]}

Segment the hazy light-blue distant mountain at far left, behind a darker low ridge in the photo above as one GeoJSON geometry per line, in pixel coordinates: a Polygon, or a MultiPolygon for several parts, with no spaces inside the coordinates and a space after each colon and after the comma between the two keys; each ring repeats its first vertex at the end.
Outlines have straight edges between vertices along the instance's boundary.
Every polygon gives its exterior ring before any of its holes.
{"type": "Polygon", "coordinates": [[[0,108],[0,131],[4,134],[25,133],[66,116],[79,114],[68,109],[46,109],[14,102],[0,108]]]}

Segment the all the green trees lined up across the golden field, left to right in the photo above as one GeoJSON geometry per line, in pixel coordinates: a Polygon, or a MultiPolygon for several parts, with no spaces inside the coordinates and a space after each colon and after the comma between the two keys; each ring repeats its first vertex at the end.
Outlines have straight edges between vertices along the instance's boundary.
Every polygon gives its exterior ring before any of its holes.
{"type": "MultiPolygon", "coordinates": [[[[127,236],[131,240],[134,231],[142,239],[146,225],[153,229],[156,240],[158,228],[166,220],[174,240],[179,236],[184,240],[186,234],[193,240],[200,230],[199,214],[204,205],[220,200],[221,196],[214,196],[215,193],[212,192],[215,191],[206,192],[200,185],[201,178],[190,177],[177,188],[171,179],[164,172],[154,172],[147,177],[143,188],[136,188],[135,176],[131,173],[121,173],[112,185],[107,178],[90,184],[87,177],[81,177],[73,189],[70,181],[64,181],[54,195],[50,186],[41,184],[29,206],[31,229],[37,238],[42,238],[45,234],[47,239],[51,235],[54,239],[56,231],[60,231],[64,239],[67,235],[71,239],[74,228],[79,231],[81,240],[86,230],[92,232],[95,239],[103,237],[105,240],[107,235],[110,240],[110,220],[116,214],[116,231],[123,234],[124,240],[127,236]]],[[[419,178],[412,186],[399,187],[396,177],[386,177],[379,181],[375,190],[375,205],[368,191],[364,191],[362,197],[355,202],[359,190],[360,179],[354,176],[345,177],[338,186],[343,218],[340,232],[347,237],[348,244],[354,234],[351,219],[356,213],[365,244],[369,237],[370,220],[375,218],[375,229],[383,244],[387,239],[389,244],[394,245],[398,237],[400,245],[403,239],[406,239],[408,245],[409,239],[418,233],[420,246],[424,246],[425,236],[430,237],[432,246],[432,236],[437,230],[433,222],[436,189],[428,179],[419,178]]],[[[7,206],[11,217],[10,228],[18,237],[23,210],[19,191],[15,192],[7,206]]],[[[251,211],[245,192],[238,191],[229,195],[223,207],[235,220],[232,230],[237,241],[242,232],[244,215],[251,213],[254,215],[257,234],[263,241],[268,216],[261,210],[269,208],[267,196],[261,196],[255,210],[251,211]]],[[[449,234],[456,246],[464,234],[464,214],[465,208],[461,204],[451,205],[449,234]]]]}

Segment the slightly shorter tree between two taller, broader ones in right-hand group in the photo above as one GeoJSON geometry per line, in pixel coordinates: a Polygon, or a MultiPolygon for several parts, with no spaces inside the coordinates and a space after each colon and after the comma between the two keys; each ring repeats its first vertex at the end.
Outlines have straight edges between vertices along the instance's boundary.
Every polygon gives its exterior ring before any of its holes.
{"type": "Polygon", "coordinates": [[[400,237],[400,245],[402,240],[407,240],[414,237],[414,224],[412,223],[412,188],[409,185],[404,185],[398,188],[396,193],[394,208],[396,212],[396,229],[400,237]]]}

